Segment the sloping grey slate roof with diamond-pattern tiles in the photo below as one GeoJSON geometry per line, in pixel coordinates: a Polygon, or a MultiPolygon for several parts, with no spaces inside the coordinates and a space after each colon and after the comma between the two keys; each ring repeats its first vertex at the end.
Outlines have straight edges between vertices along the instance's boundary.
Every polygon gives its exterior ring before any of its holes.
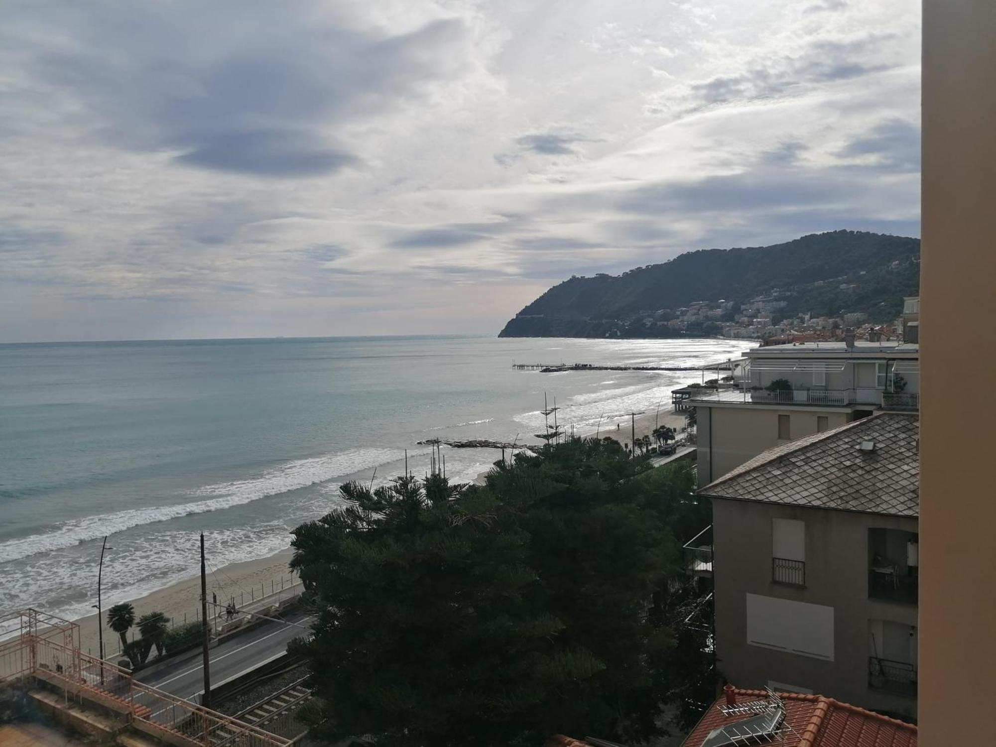
{"type": "Polygon", "coordinates": [[[882,412],[768,449],[699,495],[919,516],[918,415],[882,412]],[[863,451],[863,441],[874,448],[863,451]]]}

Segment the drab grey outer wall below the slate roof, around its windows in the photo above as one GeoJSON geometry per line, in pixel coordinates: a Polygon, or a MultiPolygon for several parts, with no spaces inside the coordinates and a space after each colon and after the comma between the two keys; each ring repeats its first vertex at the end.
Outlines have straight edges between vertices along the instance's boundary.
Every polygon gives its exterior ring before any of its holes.
{"type": "Polygon", "coordinates": [[[915,532],[915,519],[722,499],[713,499],[712,516],[716,653],[730,682],[763,687],[775,680],[866,708],[915,714],[915,700],[868,685],[872,626],[914,626],[916,608],[868,598],[866,550],[871,527],[915,532]],[[805,588],[771,580],[774,518],[806,522],[805,588]],[[834,608],[834,661],[748,644],[747,594],[834,608]]]}

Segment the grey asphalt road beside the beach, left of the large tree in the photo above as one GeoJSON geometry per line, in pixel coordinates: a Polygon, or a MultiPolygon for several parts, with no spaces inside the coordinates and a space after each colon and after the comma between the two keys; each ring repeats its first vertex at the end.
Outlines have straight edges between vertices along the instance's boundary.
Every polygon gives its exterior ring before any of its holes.
{"type": "MultiPolygon", "coordinates": [[[[285,620],[307,625],[311,617],[304,613],[293,613],[286,616],[285,620]]],[[[276,658],[287,650],[287,643],[292,638],[306,634],[307,630],[294,625],[267,622],[249,632],[233,635],[210,649],[211,686],[217,687],[232,677],[276,658]]],[[[151,673],[138,672],[135,679],[173,695],[199,702],[204,691],[201,650],[198,648],[179,656],[176,661],[151,673]]]]}

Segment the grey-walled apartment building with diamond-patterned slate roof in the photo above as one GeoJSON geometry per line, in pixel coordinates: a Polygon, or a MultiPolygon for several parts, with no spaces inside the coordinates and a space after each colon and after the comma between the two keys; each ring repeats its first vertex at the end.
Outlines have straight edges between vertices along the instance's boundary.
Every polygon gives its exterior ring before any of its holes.
{"type": "Polygon", "coordinates": [[[712,501],[729,681],[915,717],[917,419],[882,412],[812,434],[698,491],[712,501]]]}

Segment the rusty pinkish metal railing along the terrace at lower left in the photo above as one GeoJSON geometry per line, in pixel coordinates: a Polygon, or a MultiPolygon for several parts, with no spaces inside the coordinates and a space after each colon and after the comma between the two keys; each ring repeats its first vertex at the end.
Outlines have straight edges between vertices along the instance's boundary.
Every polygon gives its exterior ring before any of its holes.
{"type": "MultiPolygon", "coordinates": [[[[34,630],[42,614],[34,610],[14,614],[17,615],[24,619],[22,629],[27,631],[0,644],[0,680],[33,675],[63,690],[67,699],[72,696],[99,703],[124,714],[135,729],[172,744],[191,747],[221,743],[233,747],[291,744],[289,739],[138,682],[128,669],[83,653],[78,646],[61,643],[59,635],[37,634],[34,630]]],[[[67,624],[76,627],[74,623],[67,624]]],[[[67,629],[63,626],[58,632],[65,636],[67,629]]]]}

